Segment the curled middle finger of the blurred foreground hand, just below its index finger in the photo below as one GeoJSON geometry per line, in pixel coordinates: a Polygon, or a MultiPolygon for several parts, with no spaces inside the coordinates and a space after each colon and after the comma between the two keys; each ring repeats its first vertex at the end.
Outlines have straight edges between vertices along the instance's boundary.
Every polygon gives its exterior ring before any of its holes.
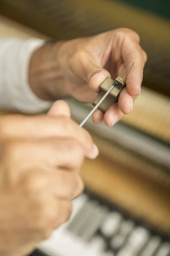
{"type": "MultiPolygon", "coordinates": [[[[30,140],[10,143],[6,146],[3,158],[9,166],[17,169],[13,173],[13,180],[17,180],[30,169],[41,169],[46,173],[56,169],[79,170],[87,154],[73,139],[39,140],[36,143],[30,140]]],[[[90,157],[95,158],[96,153],[90,157]]]]}

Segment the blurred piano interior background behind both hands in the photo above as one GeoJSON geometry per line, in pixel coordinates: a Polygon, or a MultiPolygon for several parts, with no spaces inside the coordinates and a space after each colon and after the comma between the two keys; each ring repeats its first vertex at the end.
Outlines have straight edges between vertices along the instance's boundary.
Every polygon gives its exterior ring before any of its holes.
{"type": "MultiPolygon", "coordinates": [[[[82,167],[71,220],[35,255],[170,256],[170,1],[0,0],[0,36],[66,40],[120,27],[148,55],[141,95],[113,128],[86,124],[100,155],[82,167]]],[[[91,110],[68,104],[77,122],[91,110]]]]}

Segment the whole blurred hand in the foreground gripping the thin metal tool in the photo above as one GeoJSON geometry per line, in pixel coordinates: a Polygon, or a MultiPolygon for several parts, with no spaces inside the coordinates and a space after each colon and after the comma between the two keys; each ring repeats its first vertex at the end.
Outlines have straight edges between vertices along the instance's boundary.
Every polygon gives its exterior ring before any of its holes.
{"type": "Polygon", "coordinates": [[[0,255],[25,256],[68,220],[98,150],[62,101],[46,116],[2,117],[0,149],[0,255]]]}

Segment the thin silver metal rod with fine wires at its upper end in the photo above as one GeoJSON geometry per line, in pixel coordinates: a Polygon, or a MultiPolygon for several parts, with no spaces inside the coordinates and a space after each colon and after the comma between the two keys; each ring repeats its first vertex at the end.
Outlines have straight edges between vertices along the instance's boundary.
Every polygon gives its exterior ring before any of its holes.
{"type": "MultiPolygon", "coordinates": [[[[134,64],[134,62],[133,62],[134,64]]],[[[133,67],[133,64],[131,65],[130,67],[130,70],[132,69],[133,67]]],[[[126,63],[124,64],[124,67],[122,69],[122,72],[120,73],[120,76],[118,76],[116,78],[116,80],[113,82],[113,84],[111,85],[111,87],[108,89],[108,91],[104,94],[104,96],[102,96],[102,98],[99,100],[99,102],[95,105],[95,107],[91,110],[91,112],[85,117],[85,119],[80,123],[79,127],[82,127],[87,121],[88,119],[93,115],[93,113],[96,111],[97,108],[99,108],[99,105],[106,99],[106,97],[111,93],[111,91],[113,90],[114,87],[117,87],[116,89],[119,91],[116,93],[116,97],[118,99],[118,96],[120,94],[120,92],[122,91],[124,85],[125,85],[125,81],[127,79],[127,76],[129,75],[130,73],[130,70],[129,72],[127,73],[127,75],[125,76],[124,78],[124,75],[125,75],[125,72],[127,70],[127,67],[129,65],[129,61],[127,59],[126,63]]],[[[97,98],[96,98],[97,99],[97,98]]]]}

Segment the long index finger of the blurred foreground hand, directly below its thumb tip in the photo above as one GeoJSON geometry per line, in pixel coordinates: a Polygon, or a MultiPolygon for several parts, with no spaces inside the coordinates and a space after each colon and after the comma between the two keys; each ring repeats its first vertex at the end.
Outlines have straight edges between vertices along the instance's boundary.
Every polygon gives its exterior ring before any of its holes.
{"type": "Polygon", "coordinates": [[[54,116],[6,116],[0,121],[1,139],[73,138],[85,150],[94,148],[88,131],[71,119],[54,116]]]}

